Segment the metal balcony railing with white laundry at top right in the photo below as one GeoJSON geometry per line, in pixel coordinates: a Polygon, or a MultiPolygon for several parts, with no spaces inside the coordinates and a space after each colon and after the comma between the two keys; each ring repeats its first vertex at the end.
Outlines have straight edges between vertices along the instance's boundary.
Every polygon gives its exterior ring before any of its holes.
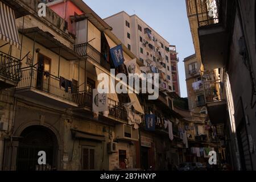
{"type": "Polygon", "coordinates": [[[220,0],[192,0],[199,27],[220,23],[220,0]]]}

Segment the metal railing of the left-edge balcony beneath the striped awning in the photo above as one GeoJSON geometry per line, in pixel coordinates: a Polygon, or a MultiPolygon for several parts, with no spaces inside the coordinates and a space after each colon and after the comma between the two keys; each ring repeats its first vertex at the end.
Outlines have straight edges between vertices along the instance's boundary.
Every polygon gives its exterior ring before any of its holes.
{"type": "Polygon", "coordinates": [[[0,75],[15,82],[22,78],[21,61],[0,51],[0,75]]]}

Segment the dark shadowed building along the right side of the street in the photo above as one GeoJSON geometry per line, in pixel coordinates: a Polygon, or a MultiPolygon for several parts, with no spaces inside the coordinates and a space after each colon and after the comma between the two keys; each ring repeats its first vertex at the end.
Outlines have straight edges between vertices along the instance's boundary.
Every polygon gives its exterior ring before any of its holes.
{"type": "Polygon", "coordinates": [[[226,162],[247,171],[256,159],[254,7],[255,1],[187,1],[204,68],[213,75],[218,70],[215,81],[205,80],[217,85],[217,97],[207,102],[209,119],[225,126],[226,162]]]}

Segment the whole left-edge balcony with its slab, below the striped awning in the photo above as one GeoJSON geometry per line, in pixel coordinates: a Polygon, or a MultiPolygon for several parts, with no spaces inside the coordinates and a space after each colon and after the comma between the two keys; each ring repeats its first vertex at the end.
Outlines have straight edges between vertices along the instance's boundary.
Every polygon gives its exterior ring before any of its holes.
{"type": "Polygon", "coordinates": [[[22,73],[21,61],[0,51],[0,89],[15,87],[18,85],[22,73]]]}

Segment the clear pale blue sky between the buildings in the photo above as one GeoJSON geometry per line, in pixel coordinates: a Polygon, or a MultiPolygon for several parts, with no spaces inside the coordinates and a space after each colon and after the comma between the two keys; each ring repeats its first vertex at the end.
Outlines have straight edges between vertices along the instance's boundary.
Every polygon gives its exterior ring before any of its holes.
{"type": "Polygon", "coordinates": [[[184,58],[195,53],[185,0],[83,0],[102,19],[126,11],[136,14],[179,52],[181,97],[187,97],[184,58]]]}

